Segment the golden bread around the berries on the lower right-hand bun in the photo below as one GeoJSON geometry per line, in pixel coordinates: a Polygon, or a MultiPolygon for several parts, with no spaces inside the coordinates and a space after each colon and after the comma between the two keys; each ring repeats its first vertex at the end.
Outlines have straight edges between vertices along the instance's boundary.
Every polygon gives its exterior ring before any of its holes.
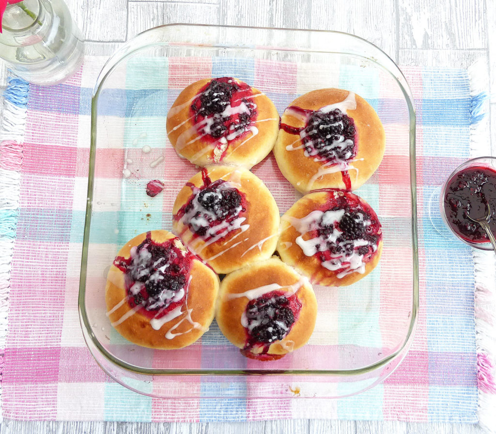
{"type": "MultiPolygon", "coordinates": [[[[363,277],[367,276],[377,265],[382,252],[382,231],[380,231],[380,241],[377,244],[377,250],[372,256],[369,262],[365,263],[365,272],[360,273],[358,271],[351,272],[344,277],[338,277],[338,271],[332,271],[325,268],[322,262],[316,255],[307,256],[303,249],[297,244],[297,237],[302,235],[302,232],[295,228],[294,220],[292,219],[304,219],[312,211],[326,211],[333,206],[334,194],[337,197],[352,197],[355,201],[359,200],[363,209],[369,214],[373,213],[372,219],[377,219],[375,212],[372,210],[370,205],[363,200],[361,197],[350,192],[344,192],[341,190],[322,190],[313,191],[300,200],[298,200],[281,218],[281,231],[279,237],[279,243],[277,245],[277,251],[281,255],[281,259],[297,268],[305,276],[307,276],[313,284],[324,285],[324,286],[348,286],[351,285],[363,277]],[[357,199],[355,199],[357,198],[357,199]],[[331,204],[329,206],[329,203],[331,204]]],[[[301,220],[300,220],[301,221],[301,220]]],[[[376,220],[378,222],[378,220],[376,220]]],[[[313,236],[310,233],[304,231],[303,240],[310,240],[313,236]]]]}

